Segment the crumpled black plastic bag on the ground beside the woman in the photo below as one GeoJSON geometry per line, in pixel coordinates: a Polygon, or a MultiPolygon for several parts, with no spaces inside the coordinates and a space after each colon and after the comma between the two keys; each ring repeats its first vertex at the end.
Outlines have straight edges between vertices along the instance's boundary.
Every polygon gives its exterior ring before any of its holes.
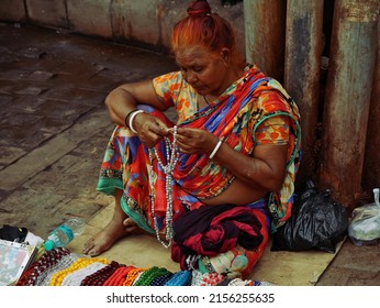
{"type": "Polygon", "coordinates": [[[346,208],[329,198],[331,191],[317,191],[306,183],[305,191],[294,201],[292,216],[273,234],[271,251],[317,249],[335,253],[347,232],[346,208]]]}

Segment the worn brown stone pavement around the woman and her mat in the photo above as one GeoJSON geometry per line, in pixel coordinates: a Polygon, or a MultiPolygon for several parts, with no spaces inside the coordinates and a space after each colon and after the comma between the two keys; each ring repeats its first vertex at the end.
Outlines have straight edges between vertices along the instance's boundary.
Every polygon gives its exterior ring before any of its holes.
{"type": "MultiPolygon", "coordinates": [[[[107,94],[172,70],[171,58],[54,30],[0,24],[0,226],[45,238],[112,199],[96,191],[113,130],[107,94]]],[[[380,245],[347,240],[317,285],[380,285],[380,245]]]]}

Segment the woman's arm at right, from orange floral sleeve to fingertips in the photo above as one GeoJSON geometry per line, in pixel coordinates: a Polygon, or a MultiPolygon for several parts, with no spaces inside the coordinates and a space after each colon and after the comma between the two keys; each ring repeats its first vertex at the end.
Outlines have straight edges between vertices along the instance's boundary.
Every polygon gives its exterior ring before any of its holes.
{"type": "Polygon", "coordinates": [[[276,121],[268,121],[258,130],[260,141],[252,156],[241,154],[226,143],[219,144],[220,140],[215,135],[199,129],[179,129],[178,145],[185,153],[203,153],[212,156],[214,162],[252,188],[265,193],[277,191],[281,188],[286,175],[288,132],[283,127],[287,119],[277,118],[276,121]],[[265,130],[269,131],[265,133],[265,130]],[[281,135],[281,139],[271,140],[271,133],[281,135]]]}

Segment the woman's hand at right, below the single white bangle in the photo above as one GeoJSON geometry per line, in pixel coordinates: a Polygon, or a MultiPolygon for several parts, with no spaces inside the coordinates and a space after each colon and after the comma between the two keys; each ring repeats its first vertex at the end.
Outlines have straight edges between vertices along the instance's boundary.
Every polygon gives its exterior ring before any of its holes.
{"type": "Polygon", "coordinates": [[[205,130],[182,128],[177,130],[177,144],[186,154],[210,155],[217,141],[215,135],[205,130]]]}

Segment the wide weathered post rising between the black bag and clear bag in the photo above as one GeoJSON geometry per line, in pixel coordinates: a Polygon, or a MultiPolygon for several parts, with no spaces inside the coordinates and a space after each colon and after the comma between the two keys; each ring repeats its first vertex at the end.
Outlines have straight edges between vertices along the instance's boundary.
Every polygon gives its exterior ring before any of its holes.
{"type": "Polygon", "coordinates": [[[335,1],[320,185],[348,208],[361,196],[378,14],[378,0],[335,1]]]}

